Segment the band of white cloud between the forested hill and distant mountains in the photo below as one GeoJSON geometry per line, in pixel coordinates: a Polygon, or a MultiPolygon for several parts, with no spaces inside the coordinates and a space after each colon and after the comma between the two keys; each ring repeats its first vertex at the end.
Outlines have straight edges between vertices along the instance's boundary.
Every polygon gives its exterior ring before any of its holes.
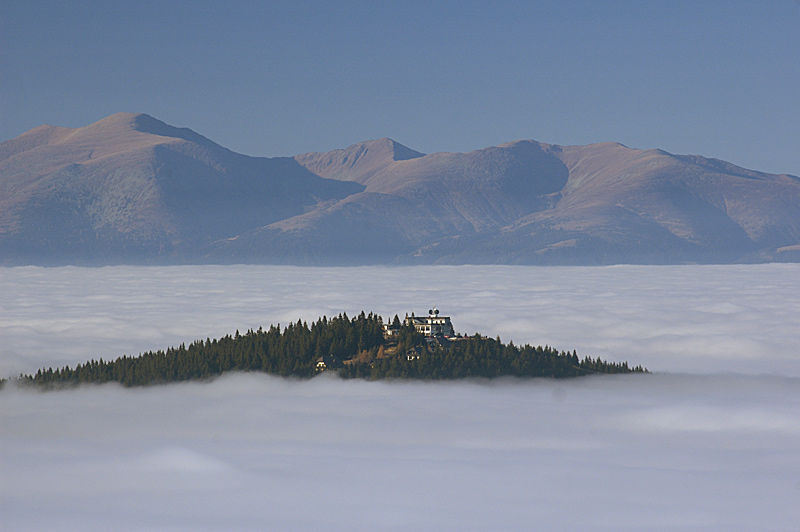
{"type": "Polygon", "coordinates": [[[347,312],[655,371],[800,377],[800,265],[0,269],[0,375],[347,312]]]}

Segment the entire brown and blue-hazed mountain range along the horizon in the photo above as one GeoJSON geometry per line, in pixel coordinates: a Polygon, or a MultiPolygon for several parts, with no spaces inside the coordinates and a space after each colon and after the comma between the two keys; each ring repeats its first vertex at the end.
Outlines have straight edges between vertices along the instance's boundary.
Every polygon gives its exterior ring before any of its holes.
{"type": "Polygon", "coordinates": [[[800,179],[615,143],[254,158],[147,115],[0,144],[5,264],[800,260],[800,179]]]}

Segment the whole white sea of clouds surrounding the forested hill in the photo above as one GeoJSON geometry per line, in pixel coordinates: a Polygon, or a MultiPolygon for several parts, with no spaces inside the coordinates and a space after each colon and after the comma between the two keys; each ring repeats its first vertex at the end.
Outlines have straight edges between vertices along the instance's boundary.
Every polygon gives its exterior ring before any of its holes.
{"type": "Polygon", "coordinates": [[[796,530],[800,265],[0,269],[0,374],[433,305],[651,375],[0,391],[17,530],[796,530]]]}

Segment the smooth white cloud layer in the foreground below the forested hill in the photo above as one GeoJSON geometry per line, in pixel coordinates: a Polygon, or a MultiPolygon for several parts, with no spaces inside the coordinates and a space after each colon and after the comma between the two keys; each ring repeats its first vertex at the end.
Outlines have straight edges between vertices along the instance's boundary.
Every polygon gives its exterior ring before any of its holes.
{"type": "Polygon", "coordinates": [[[4,529],[795,530],[800,382],[211,383],[0,394],[4,529]]]}

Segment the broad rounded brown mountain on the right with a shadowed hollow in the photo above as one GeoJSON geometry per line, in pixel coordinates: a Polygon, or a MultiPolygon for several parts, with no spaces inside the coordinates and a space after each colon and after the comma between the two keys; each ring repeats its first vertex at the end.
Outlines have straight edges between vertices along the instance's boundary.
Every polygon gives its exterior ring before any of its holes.
{"type": "Polygon", "coordinates": [[[366,190],[236,245],[286,262],[608,264],[796,260],[800,243],[796,177],[616,143],[308,168],[366,190]]]}

